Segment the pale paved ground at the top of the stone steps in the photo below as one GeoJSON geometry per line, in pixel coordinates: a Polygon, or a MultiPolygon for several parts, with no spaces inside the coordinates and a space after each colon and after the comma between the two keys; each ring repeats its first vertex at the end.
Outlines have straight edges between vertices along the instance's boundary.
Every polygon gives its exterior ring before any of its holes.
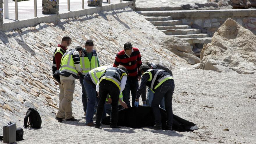
{"type": "Polygon", "coordinates": [[[136,0],[136,7],[182,6],[184,4],[206,3],[207,0],[136,0]]]}

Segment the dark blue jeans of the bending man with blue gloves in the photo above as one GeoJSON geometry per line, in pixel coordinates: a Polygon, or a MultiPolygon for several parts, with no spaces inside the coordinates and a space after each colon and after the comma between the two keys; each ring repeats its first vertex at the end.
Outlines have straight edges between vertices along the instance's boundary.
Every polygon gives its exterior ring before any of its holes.
{"type": "Polygon", "coordinates": [[[173,90],[174,90],[174,80],[170,79],[163,82],[154,93],[154,98],[152,100],[152,111],[154,113],[154,117],[156,120],[157,126],[162,126],[161,124],[161,114],[159,109],[159,104],[161,103],[164,97],[164,104],[167,113],[167,121],[166,125],[169,128],[173,126],[173,108],[172,108],[172,97],[173,97],[173,90]]]}

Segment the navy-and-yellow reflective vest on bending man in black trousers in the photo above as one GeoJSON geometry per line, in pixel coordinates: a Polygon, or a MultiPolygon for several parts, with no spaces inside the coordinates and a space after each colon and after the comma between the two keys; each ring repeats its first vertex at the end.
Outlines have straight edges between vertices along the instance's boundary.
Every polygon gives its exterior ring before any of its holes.
{"type": "Polygon", "coordinates": [[[121,90],[120,85],[121,85],[121,79],[123,76],[127,75],[125,71],[116,68],[116,67],[109,67],[105,70],[104,74],[102,74],[102,77],[99,80],[99,83],[105,79],[108,81],[112,81],[115,83],[115,85],[121,90]]]}

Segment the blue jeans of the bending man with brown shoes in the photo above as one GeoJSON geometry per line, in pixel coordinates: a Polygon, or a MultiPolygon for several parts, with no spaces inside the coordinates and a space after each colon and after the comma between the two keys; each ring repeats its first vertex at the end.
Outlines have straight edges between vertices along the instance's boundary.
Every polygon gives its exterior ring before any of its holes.
{"type": "Polygon", "coordinates": [[[86,109],[86,119],[85,124],[93,122],[93,114],[94,114],[94,107],[96,103],[96,90],[93,86],[88,83],[87,81],[83,81],[83,85],[86,89],[87,96],[88,96],[88,104],[86,109]]]}

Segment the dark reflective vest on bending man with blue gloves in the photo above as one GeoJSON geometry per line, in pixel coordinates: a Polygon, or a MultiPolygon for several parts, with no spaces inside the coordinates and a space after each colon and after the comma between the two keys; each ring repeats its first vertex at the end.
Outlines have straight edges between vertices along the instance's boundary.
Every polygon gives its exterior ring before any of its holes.
{"type": "Polygon", "coordinates": [[[144,74],[150,75],[150,78],[147,80],[147,86],[150,88],[150,90],[152,90],[153,93],[163,82],[167,81],[168,79],[173,79],[168,72],[162,69],[150,69],[144,72],[143,75],[144,74]]]}

